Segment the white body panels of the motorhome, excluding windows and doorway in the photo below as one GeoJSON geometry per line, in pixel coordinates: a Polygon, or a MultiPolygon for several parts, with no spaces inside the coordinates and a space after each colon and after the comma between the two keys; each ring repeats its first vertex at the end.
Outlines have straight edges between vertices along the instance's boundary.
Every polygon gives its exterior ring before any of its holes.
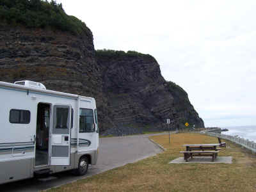
{"type": "MultiPolygon", "coordinates": [[[[44,88],[34,88],[0,81],[0,105],[0,184],[33,177],[34,172],[44,169],[49,169],[51,173],[54,173],[77,168],[81,156],[88,156],[91,164],[97,163],[99,130],[97,130],[97,119],[95,119],[97,118],[97,116],[95,116],[95,99],[92,97],[55,92],[44,88]],[[70,129],[70,134],[63,134],[65,137],[61,135],[54,135],[52,137],[52,118],[54,118],[52,110],[56,105],[70,106],[70,111],[68,112],[68,114],[70,114],[69,121],[73,122],[73,124],[68,128],[70,129]],[[45,106],[45,111],[46,108],[50,111],[49,136],[44,136],[47,142],[43,141],[39,135],[43,135],[44,130],[40,131],[39,128],[36,128],[36,126],[38,126],[38,106],[45,106]],[[79,110],[81,110],[81,108],[93,114],[93,117],[91,116],[90,118],[93,119],[93,127],[95,127],[95,129],[90,132],[79,131],[79,125],[81,124],[81,122],[79,122],[79,110]],[[20,110],[27,111],[24,114],[28,114],[29,111],[29,123],[11,123],[11,110],[13,110],[13,114],[16,112],[20,113],[20,116],[23,114],[23,112],[19,112],[20,110]],[[72,120],[71,113],[73,116],[72,120]],[[42,143],[40,143],[40,139],[42,143]],[[65,142],[69,143],[67,145],[69,150],[68,158],[64,150],[55,150],[57,156],[51,159],[51,153],[54,151],[52,150],[51,143],[55,143],[55,145],[65,145],[63,144],[65,142]],[[36,166],[36,147],[41,147],[42,150],[40,150],[42,152],[45,151],[45,153],[48,153],[49,159],[45,159],[47,163],[36,166]],[[47,149],[45,150],[44,148],[47,149]]],[[[42,115],[44,115],[43,112],[42,115]]],[[[88,117],[86,116],[85,118],[88,117]]],[[[67,124],[70,124],[70,122],[67,122],[67,124]]]]}

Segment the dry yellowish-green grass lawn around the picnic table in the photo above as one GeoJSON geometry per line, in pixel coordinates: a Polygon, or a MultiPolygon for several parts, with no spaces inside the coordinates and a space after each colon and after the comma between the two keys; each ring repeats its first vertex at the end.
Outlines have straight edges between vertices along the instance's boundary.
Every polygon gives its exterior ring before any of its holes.
{"type": "Polygon", "coordinates": [[[219,156],[232,156],[232,164],[168,164],[182,156],[182,145],[218,143],[217,138],[180,133],[152,136],[164,148],[162,154],[127,164],[49,191],[256,191],[254,154],[226,141],[219,156]]]}

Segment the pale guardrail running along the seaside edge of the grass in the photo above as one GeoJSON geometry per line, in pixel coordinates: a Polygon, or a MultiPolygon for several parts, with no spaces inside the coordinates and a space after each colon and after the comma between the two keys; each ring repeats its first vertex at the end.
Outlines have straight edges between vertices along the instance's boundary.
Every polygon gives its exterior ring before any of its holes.
{"type": "Polygon", "coordinates": [[[223,140],[229,140],[234,143],[237,143],[238,145],[243,146],[244,148],[248,148],[249,150],[252,150],[253,153],[256,153],[256,143],[254,141],[249,141],[244,138],[239,138],[236,136],[230,136],[227,134],[220,134],[215,132],[207,132],[207,131],[200,131],[200,134],[206,134],[212,137],[221,138],[223,140]]]}

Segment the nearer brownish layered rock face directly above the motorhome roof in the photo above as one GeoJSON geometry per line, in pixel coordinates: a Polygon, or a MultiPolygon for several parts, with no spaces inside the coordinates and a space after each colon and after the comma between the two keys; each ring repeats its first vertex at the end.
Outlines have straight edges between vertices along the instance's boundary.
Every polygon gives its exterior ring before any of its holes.
{"type": "MultiPolygon", "coordinates": [[[[82,35],[0,24],[0,81],[28,79],[49,90],[95,97],[104,111],[101,71],[90,29],[82,35]]],[[[105,122],[102,113],[100,119],[105,122]]]]}

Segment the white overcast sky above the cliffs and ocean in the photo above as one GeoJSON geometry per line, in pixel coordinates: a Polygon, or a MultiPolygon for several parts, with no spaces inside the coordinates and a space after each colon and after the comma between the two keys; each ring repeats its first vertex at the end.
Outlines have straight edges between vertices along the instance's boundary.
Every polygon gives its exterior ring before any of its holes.
{"type": "Polygon", "coordinates": [[[151,54],[205,127],[255,125],[256,1],[58,0],[95,49],[151,54]]]}

